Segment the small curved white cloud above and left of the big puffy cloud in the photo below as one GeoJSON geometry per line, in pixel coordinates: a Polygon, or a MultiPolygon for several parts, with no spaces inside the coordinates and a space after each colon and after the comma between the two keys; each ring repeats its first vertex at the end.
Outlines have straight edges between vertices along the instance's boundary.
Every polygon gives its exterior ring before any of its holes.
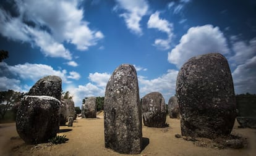
{"type": "Polygon", "coordinates": [[[165,19],[159,18],[160,12],[156,11],[154,14],[150,15],[148,20],[148,28],[155,28],[163,33],[168,35],[167,39],[155,39],[154,46],[158,47],[158,49],[169,49],[171,39],[173,38],[173,24],[169,23],[165,19]]]}

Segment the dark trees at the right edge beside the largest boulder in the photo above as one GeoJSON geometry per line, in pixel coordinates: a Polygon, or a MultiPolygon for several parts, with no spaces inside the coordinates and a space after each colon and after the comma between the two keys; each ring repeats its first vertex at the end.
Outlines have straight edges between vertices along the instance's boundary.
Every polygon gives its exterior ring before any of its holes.
{"type": "Polygon", "coordinates": [[[256,94],[236,95],[238,115],[242,117],[256,117],[256,94]]]}

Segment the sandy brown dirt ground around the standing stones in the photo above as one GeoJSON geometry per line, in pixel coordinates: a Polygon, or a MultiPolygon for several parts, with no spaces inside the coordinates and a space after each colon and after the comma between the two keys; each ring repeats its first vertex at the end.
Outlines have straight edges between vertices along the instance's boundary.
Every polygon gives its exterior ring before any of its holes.
{"type": "MultiPolygon", "coordinates": [[[[69,139],[64,144],[49,145],[25,145],[19,138],[15,129],[15,123],[0,124],[0,155],[59,155],[59,156],[84,156],[84,155],[126,155],[118,154],[111,149],[105,148],[104,142],[104,118],[103,113],[95,119],[75,120],[72,127],[61,126],[59,135],[66,135],[69,139]]],[[[141,156],[146,155],[232,155],[232,156],[255,156],[256,155],[256,129],[237,128],[234,125],[233,133],[247,138],[247,147],[242,149],[218,149],[213,147],[198,147],[195,142],[176,138],[175,134],[181,134],[180,122],[177,119],[166,118],[169,127],[148,128],[142,127],[143,144],[141,156]]]]}

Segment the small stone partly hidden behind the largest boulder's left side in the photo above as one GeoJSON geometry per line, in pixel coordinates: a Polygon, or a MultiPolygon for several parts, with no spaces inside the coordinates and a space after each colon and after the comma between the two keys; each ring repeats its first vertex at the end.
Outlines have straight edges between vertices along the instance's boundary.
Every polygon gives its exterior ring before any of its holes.
{"type": "Polygon", "coordinates": [[[170,118],[179,118],[179,104],[176,96],[172,96],[168,101],[168,113],[170,118]]]}

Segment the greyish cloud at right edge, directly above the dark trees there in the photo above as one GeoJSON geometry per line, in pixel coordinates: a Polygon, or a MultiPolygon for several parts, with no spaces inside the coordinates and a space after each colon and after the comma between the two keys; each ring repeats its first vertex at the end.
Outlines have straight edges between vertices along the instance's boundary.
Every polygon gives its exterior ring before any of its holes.
{"type": "Polygon", "coordinates": [[[238,65],[232,73],[236,94],[256,92],[256,56],[238,65]]]}

